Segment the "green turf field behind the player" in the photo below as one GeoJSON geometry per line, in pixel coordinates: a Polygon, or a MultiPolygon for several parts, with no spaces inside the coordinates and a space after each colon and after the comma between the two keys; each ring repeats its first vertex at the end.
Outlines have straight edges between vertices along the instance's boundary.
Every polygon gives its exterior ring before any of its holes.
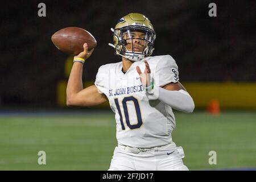
{"type": "MultiPolygon", "coordinates": [[[[256,112],[175,113],[173,140],[191,170],[256,168],[256,112]],[[217,164],[209,165],[209,151],[217,164]]],[[[106,170],[115,139],[114,114],[0,115],[0,170],[106,170]],[[46,165],[38,151],[46,151],[46,165]]]]}

